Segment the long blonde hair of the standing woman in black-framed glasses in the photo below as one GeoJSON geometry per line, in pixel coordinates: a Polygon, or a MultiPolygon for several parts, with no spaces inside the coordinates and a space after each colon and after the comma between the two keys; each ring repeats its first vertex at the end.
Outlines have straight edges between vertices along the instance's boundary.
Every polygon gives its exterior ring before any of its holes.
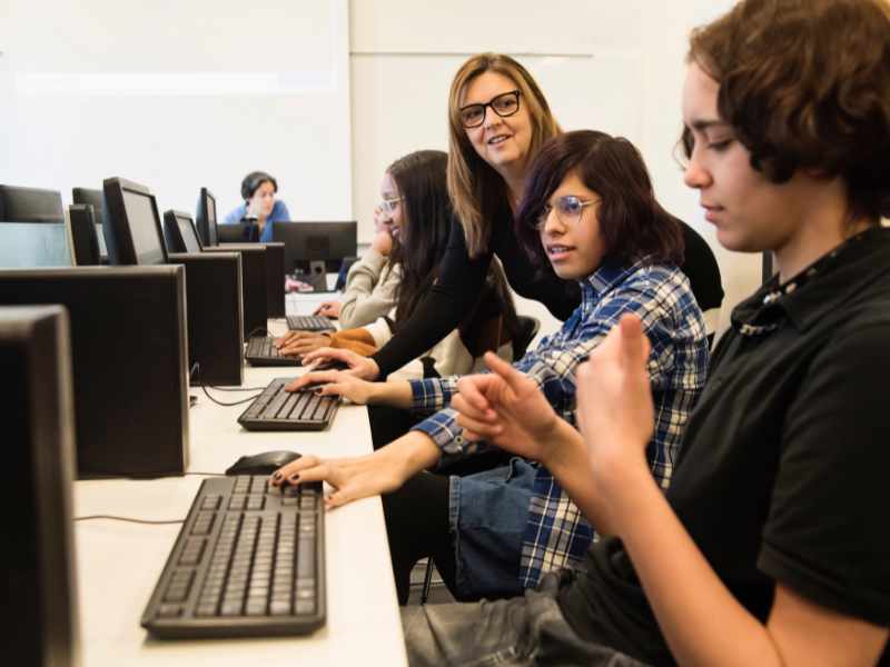
{"type": "Polygon", "coordinates": [[[491,219],[498,208],[508,206],[504,179],[478,156],[461,122],[461,96],[466,86],[490,71],[513,81],[520,90],[520,104],[528,109],[532,121],[528,165],[543,143],[561,132],[532,74],[510,56],[479,53],[457,70],[448,92],[448,196],[464,227],[471,257],[478,257],[488,249],[491,219]]]}

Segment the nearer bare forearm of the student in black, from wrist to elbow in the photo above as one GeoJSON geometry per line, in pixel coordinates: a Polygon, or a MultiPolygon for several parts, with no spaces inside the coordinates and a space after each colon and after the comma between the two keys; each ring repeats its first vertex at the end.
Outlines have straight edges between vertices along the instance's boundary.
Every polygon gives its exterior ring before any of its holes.
{"type": "Polygon", "coordinates": [[[676,661],[782,665],[767,628],[716,576],[645,465],[610,487],[610,515],[676,661]]]}

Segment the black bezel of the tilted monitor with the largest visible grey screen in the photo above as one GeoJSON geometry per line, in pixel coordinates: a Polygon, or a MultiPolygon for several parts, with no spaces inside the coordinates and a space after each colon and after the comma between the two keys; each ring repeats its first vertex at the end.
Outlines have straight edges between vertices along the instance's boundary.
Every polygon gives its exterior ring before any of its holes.
{"type": "Polygon", "coordinates": [[[102,181],[102,191],[105,192],[107,207],[102,225],[106,230],[105,240],[109,263],[117,266],[158,266],[167,263],[167,243],[165,242],[164,230],[160,226],[158,202],[151,191],[145,186],[117,177],[105,179],[105,181],[102,181]],[[151,211],[155,217],[155,232],[158,235],[158,245],[161,251],[160,260],[144,262],[140,261],[139,257],[136,255],[132,230],[130,229],[127,208],[123,203],[125,192],[131,192],[149,199],[151,211]]]}

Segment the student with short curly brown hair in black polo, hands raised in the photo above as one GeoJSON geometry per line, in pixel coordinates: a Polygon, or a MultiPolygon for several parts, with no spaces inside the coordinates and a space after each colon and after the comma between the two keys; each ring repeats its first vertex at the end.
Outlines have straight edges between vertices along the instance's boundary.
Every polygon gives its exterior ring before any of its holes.
{"type": "Polygon", "coordinates": [[[453,405],[612,537],[524,598],[405,616],[412,665],[890,665],[890,7],[745,0],[695,31],[690,151],[720,242],[779,275],[733,311],[666,495],[640,322],[578,374],[583,434],[492,360],[453,405]]]}

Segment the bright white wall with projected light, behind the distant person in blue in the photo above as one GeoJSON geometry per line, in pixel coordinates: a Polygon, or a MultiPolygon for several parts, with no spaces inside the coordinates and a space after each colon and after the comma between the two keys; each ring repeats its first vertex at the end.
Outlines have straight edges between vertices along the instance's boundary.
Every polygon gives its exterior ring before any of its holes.
{"type": "Polygon", "coordinates": [[[122,176],[187,211],[207,186],[225,212],[263,169],[295,218],[352,217],[348,0],[6,0],[0,17],[0,182],[70,201],[122,176]]]}

